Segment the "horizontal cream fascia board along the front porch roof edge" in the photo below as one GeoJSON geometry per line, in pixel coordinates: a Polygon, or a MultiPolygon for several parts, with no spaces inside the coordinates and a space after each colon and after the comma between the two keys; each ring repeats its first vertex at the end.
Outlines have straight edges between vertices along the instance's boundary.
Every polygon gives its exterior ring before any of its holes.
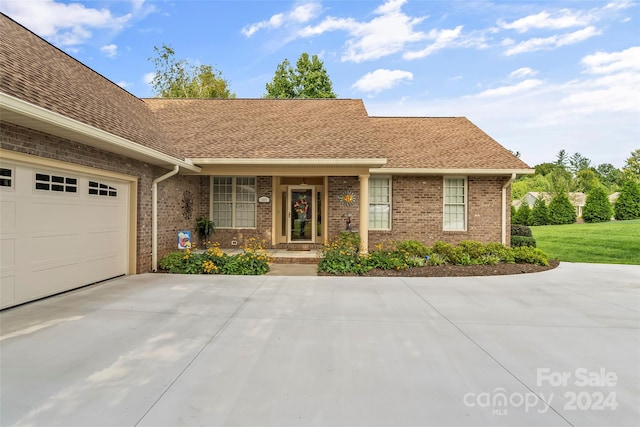
{"type": "Polygon", "coordinates": [[[224,159],[188,158],[195,165],[256,165],[256,166],[367,166],[379,168],[387,164],[387,159],[224,159]]]}

